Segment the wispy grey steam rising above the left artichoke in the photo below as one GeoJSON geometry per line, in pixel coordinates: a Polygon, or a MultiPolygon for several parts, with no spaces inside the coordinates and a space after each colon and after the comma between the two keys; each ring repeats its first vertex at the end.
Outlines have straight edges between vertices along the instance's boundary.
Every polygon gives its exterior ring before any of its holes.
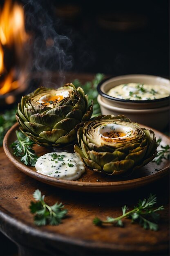
{"type": "MultiPolygon", "coordinates": [[[[57,34],[50,9],[41,5],[40,0],[24,0],[26,30],[33,32],[32,71],[40,72],[42,78],[49,81],[50,73],[72,68],[71,40],[64,35],[57,34]]],[[[49,1],[46,1],[49,6],[49,1]]]]}

